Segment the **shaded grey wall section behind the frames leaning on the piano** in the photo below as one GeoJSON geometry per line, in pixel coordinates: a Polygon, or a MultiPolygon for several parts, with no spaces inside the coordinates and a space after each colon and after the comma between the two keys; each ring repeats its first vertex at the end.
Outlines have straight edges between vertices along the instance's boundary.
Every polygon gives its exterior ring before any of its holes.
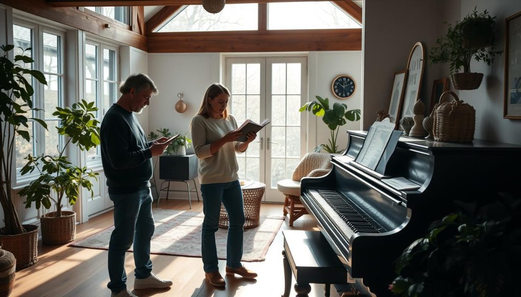
{"type": "MultiPolygon", "coordinates": [[[[428,50],[440,34],[442,2],[439,0],[368,0],[363,17],[363,128],[375,121],[378,109],[388,110],[394,72],[407,68],[414,44],[428,50]]],[[[439,67],[424,65],[420,98],[430,104],[432,82],[439,67]]]]}

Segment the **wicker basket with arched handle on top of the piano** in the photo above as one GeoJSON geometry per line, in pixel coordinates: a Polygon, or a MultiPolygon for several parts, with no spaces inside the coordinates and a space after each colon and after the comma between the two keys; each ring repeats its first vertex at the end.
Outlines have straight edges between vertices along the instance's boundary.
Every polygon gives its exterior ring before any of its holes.
{"type": "Polygon", "coordinates": [[[440,104],[434,110],[434,139],[438,141],[454,141],[467,143],[474,140],[476,110],[463,103],[452,91],[441,94],[440,104]],[[452,95],[454,101],[443,102],[452,95]]]}

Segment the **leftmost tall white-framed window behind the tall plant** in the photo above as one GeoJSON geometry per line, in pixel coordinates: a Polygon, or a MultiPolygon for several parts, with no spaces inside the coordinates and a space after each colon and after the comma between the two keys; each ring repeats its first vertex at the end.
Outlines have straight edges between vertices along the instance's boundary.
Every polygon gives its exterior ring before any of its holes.
{"type": "MultiPolygon", "coordinates": [[[[28,118],[42,119],[47,123],[47,130],[40,124],[35,124],[34,120],[29,120],[27,129],[31,141],[17,136],[16,146],[16,169],[17,176],[27,160],[24,158],[28,154],[38,156],[40,154],[58,154],[58,150],[63,146],[63,139],[58,135],[56,126],[59,121],[54,117],[53,112],[56,107],[64,106],[64,39],[65,33],[57,32],[41,25],[26,23],[15,20],[13,25],[13,40],[15,44],[15,55],[20,55],[22,49],[31,48],[25,55],[34,59],[34,63],[20,65],[41,71],[45,75],[47,85],[41,85],[31,76],[26,76],[34,88],[33,106],[39,111],[33,111],[28,118]]],[[[30,176],[28,177],[30,178],[30,176]]]]}

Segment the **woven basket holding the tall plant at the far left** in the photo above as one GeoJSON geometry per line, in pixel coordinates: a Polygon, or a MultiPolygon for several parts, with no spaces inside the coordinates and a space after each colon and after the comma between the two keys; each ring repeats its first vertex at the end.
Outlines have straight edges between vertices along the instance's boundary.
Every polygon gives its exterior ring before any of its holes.
{"type": "MultiPolygon", "coordinates": [[[[0,235],[2,249],[15,255],[16,269],[29,267],[38,261],[38,226],[22,225],[26,233],[0,235]]],[[[0,229],[2,234],[3,228],[0,229]]]]}

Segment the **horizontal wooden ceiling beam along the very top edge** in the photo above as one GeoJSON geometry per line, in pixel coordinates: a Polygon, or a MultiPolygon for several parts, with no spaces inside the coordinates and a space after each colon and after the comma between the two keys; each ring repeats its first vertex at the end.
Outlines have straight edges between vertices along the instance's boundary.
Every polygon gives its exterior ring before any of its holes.
{"type": "MultiPolygon", "coordinates": [[[[328,0],[226,0],[226,4],[237,3],[270,3],[270,2],[302,2],[328,0]]],[[[49,5],[64,6],[181,6],[201,4],[201,0],[46,0],[49,5]]],[[[352,2],[346,0],[344,2],[352,2]]],[[[352,3],[354,6],[358,6],[352,3]]]]}

